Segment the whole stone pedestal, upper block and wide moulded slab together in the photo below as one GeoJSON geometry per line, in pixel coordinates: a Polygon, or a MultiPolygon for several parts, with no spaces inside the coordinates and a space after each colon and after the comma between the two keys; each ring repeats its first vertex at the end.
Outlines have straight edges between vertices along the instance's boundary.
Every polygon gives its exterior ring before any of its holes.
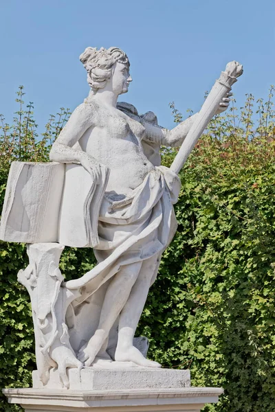
{"type": "Polygon", "coordinates": [[[34,371],[33,388],[3,393],[25,412],[199,412],[223,393],[221,388],[190,387],[189,370],[119,366],[69,369],[70,389],[61,389],[56,370],[44,387],[34,371]]]}

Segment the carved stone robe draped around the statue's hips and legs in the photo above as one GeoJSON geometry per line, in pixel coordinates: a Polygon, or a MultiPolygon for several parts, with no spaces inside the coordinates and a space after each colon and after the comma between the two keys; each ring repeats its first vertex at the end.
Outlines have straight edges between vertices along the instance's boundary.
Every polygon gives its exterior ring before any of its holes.
{"type": "MultiPolygon", "coordinates": [[[[135,114],[135,108],[129,104],[120,108],[126,114],[129,111],[135,114]]],[[[156,122],[151,112],[144,117],[148,122],[156,122]]],[[[159,143],[142,141],[142,144],[155,170],[146,175],[131,196],[118,200],[115,195],[104,195],[98,221],[99,244],[94,248],[98,264],[80,279],[65,284],[68,289],[78,289],[81,293],[69,306],[66,316],[70,342],[75,351],[96,331],[109,279],[120,271],[121,266],[151,260],[153,284],[162,252],[177,229],[173,204],[179,194],[179,177],[160,165],[159,143]]],[[[111,356],[116,339],[117,323],[109,336],[108,352],[111,356]]]]}

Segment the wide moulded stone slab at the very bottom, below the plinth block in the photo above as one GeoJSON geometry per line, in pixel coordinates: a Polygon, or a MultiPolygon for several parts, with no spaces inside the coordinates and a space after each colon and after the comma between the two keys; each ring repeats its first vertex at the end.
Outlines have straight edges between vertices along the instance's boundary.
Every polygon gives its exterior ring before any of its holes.
{"type": "Polygon", "coordinates": [[[129,389],[72,391],[54,389],[4,389],[8,402],[25,412],[199,412],[206,403],[218,402],[220,388],[129,389]]]}

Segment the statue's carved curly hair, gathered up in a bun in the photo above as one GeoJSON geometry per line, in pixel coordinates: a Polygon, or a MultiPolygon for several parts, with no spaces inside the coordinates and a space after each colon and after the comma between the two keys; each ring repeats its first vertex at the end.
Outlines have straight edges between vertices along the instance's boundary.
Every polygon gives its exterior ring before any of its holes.
{"type": "Polygon", "coordinates": [[[96,47],[87,47],[79,58],[87,70],[87,81],[94,93],[105,86],[115,62],[130,66],[128,57],[118,47],[101,47],[99,50],[96,47]]]}

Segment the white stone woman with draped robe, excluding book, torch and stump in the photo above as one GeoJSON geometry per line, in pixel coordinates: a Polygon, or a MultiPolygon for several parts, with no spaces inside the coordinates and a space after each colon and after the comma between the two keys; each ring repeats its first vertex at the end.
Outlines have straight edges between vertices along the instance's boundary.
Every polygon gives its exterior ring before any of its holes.
{"type": "MultiPolygon", "coordinates": [[[[167,130],[157,125],[153,113],[138,115],[130,104],[118,104],[118,96],[128,91],[132,78],[126,54],[116,47],[88,47],[80,60],[91,91],[56,139],[50,159],[83,165],[97,184],[102,168],[108,168],[109,180],[94,248],[98,264],[66,283],[68,289],[79,288],[82,295],[71,308],[78,336],[74,349],[86,366],[96,357],[111,360],[106,350],[110,331],[118,323],[115,361],[159,367],[133,346],[148,289],[177,228],[173,203],[180,182],[174,172],[160,165],[159,148],[180,146],[196,115],[167,130]],[[87,327],[83,328],[84,323],[87,327]],[[88,323],[93,323],[92,328],[88,323]],[[82,325],[83,332],[77,325],[82,325]]],[[[219,112],[229,102],[230,98],[223,98],[219,112]]]]}

